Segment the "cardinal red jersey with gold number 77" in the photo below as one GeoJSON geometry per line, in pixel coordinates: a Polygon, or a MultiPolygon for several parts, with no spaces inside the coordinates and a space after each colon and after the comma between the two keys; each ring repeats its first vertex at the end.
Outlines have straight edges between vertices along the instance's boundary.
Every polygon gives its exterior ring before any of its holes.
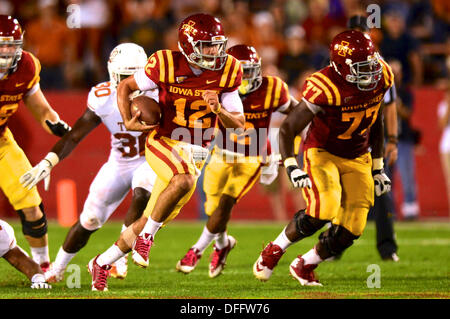
{"type": "Polygon", "coordinates": [[[359,90],[330,66],[306,79],[303,99],[318,112],[308,130],[305,149],[324,148],[344,158],[356,158],[368,151],[370,127],[394,81],[389,65],[381,63],[383,77],[372,91],[359,90]]]}

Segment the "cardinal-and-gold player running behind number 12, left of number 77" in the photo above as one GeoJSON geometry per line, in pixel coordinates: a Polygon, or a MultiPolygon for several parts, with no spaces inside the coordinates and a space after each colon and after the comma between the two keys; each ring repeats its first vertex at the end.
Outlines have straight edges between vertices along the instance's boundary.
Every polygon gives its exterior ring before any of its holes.
{"type": "MultiPolygon", "coordinates": [[[[227,50],[241,62],[243,68],[239,95],[244,105],[245,132],[227,134],[219,123],[216,146],[205,167],[203,188],[206,194],[205,212],[208,221],[199,240],[178,261],[176,269],[185,274],[194,270],[203,252],[215,239],[209,264],[209,277],[221,274],[226,258],[236,245],[227,235],[227,223],[234,205],[260,178],[268,155],[267,139],[273,112],[287,114],[298,102],[289,95],[288,86],[280,78],[261,75],[261,58],[255,48],[235,45],[227,50]]],[[[276,170],[275,170],[276,171],[276,170]]]]}

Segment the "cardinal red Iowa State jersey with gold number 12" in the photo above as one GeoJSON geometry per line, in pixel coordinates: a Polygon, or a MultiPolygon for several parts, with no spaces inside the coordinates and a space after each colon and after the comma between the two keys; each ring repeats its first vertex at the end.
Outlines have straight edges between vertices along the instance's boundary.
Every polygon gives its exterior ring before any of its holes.
{"type": "Polygon", "coordinates": [[[159,88],[162,117],[157,134],[199,145],[213,138],[217,120],[202,98],[203,91],[215,90],[220,100],[220,94],[236,90],[242,78],[240,62],[231,55],[223,69],[203,69],[197,76],[184,55],[172,50],[155,52],[145,66],[145,73],[159,88]]]}

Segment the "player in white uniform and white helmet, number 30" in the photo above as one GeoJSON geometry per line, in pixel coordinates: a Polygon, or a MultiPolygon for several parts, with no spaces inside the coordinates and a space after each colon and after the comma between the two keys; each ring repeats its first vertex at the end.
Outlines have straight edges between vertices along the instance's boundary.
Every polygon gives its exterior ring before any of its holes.
{"type": "MultiPolygon", "coordinates": [[[[55,165],[67,157],[73,149],[100,123],[111,132],[111,152],[93,180],[83,211],[69,230],[56,260],[46,273],[49,282],[63,279],[64,271],[73,257],[89,240],[89,237],[108,220],[115,209],[133,191],[132,203],[125,217],[122,230],[141,217],[150,198],[156,179],[145,161],[146,134],[128,131],[117,106],[117,85],[147,63],[144,49],[134,43],[122,43],[115,47],[108,60],[110,81],[94,86],[89,92],[87,109],[73,129],[60,139],[38,165],[22,178],[25,187],[34,187],[39,181],[50,178],[55,165]]],[[[111,275],[125,278],[127,256],[117,260],[111,275]]]]}

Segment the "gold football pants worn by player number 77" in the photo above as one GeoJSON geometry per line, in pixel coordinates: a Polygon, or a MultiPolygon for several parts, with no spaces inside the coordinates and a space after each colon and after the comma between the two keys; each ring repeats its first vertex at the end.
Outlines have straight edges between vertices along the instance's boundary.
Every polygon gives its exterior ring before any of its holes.
{"type": "Polygon", "coordinates": [[[312,182],[311,189],[303,188],[306,214],[361,236],[374,203],[370,153],[347,159],[310,148],[304,153],[304,167],[312,182]]]}

